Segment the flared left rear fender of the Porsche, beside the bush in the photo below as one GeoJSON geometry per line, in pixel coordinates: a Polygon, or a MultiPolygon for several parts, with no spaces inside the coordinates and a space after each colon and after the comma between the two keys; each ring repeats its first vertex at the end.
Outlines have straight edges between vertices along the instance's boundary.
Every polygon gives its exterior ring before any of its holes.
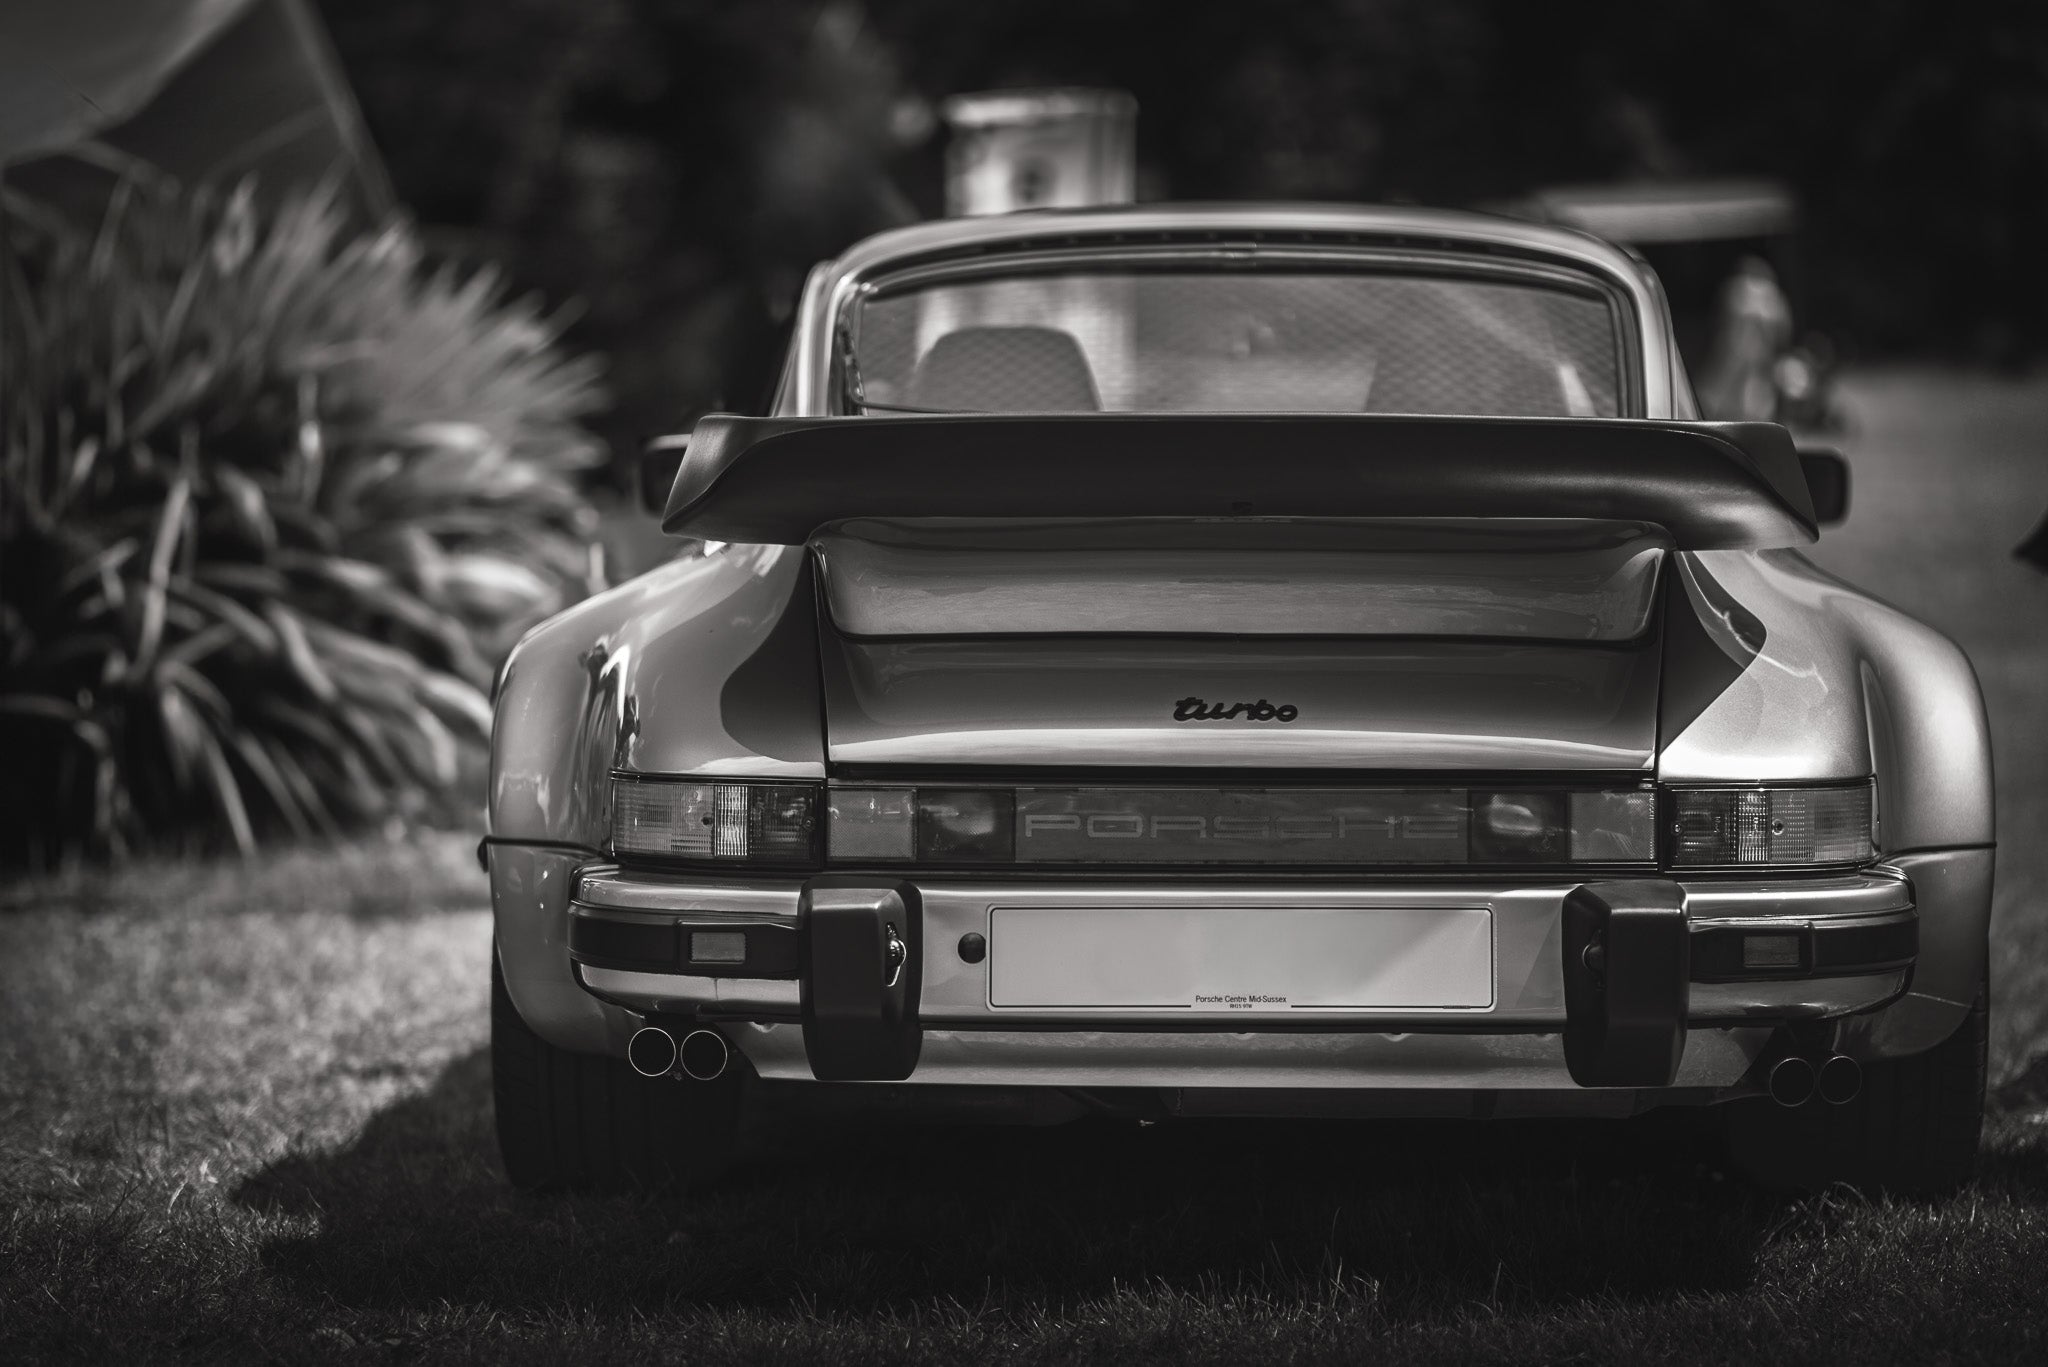
{"type": "Polygon", "coordinates": [[[496,691],[487,851],[506,990],[543,1037],[602,1053],[633,1033],[575,984],[565,943],[610,773],[819,779],[817,678],[811,572],[788,547],[674,560],[518,644],[496,691]]]}

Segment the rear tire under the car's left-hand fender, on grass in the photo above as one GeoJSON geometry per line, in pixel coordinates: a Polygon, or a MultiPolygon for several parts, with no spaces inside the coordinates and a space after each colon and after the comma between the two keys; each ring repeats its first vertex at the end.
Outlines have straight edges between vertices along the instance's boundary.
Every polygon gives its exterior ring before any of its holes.
{"type": "Polygon", "coordinates": [[[492,1099],[514,1187],[709,1183],[731,1164],[745,1076],[737,1049],[713,1082],[643,1078],[623,1058],[557,1049],[520,1019],[492,953],[492,1099]]]}

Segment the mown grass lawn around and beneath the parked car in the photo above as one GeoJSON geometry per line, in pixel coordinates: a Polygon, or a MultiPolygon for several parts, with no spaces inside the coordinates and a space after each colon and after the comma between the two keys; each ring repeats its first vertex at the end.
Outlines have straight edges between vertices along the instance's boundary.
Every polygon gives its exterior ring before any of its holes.
{"type": "Polygon", "coordinates": [[[2005,560],[2048,387],[1849,398],[1821,560],[1958,635],[1999,738],[1962,1197],[1772,1199],[1665,1117],[811,1133],[698,1199],[518,1197],[436,836],[0,889],[0,1361],[2048,1359],[2048,580],[2005,560]]]}

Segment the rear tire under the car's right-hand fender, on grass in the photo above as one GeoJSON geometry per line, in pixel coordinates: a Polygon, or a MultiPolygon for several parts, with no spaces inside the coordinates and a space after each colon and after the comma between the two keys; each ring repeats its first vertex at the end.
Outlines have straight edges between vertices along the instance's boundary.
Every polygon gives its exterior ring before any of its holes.
{"type": "Polygon", "coordinates": [[[1729,1103],[1731,1164],[1774,1191],[1833,1183],[1915,1197],[1956,1191],[1976,1170],[1985,1127],[1987,1017],[1978,990],[1970,1014],[1933,1049],[1864,1064],[1864,1090],[1847,1105],[1729,1103]]]}

